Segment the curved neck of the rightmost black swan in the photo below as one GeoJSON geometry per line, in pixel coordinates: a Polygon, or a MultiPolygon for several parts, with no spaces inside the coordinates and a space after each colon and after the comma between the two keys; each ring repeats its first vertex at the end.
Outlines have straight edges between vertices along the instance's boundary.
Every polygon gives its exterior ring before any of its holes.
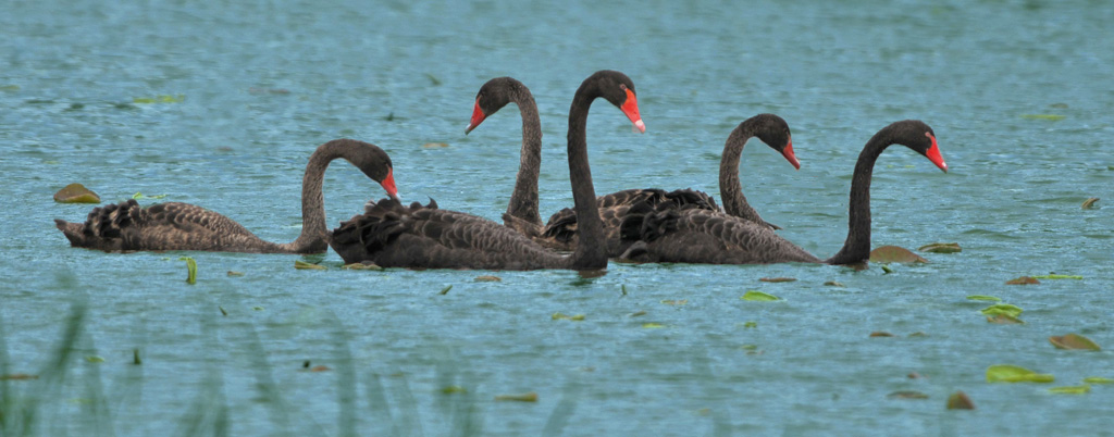
{"type": "Polygon", "coordinates": [[[870,178],[874,172],[874,161],[878,160],[878,156],[892,143],[892,140],[883,137],[883,132],[878,132],[859,153],[859,160],[854,163],[854,176],[851,179],[847,240],[843,241],[843,248],[824,262],[846,265],[862,262],[870,258],[870,178]]]}

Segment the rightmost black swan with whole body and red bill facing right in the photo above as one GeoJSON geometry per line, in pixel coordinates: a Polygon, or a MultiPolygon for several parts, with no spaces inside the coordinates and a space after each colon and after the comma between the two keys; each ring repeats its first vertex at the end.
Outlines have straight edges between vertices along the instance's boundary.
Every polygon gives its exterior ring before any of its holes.
{"type": "Polygon", "coordinates": [[[854,165],[847,241],[827,260],[752,221],[698,209],[655,210],[645,203],[632,207],[632,213],[622,225],[623,238],[637,241],[623,258],[695,264],[863,262],[870,257],[870,178],[874,161],[890,145],[906,146],[948,171],[936,135],[928,125],[905,120],[879,130],[863,147],[854,165]]]}

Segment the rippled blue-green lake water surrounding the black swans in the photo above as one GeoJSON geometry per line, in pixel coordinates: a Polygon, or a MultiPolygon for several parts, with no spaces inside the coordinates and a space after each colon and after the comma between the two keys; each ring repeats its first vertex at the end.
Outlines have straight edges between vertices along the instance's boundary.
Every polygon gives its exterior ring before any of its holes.
{"type": "MultiPolygon", "coordinates": [[[[41,398],[41,434],[213,426],[198,417],[216,427],[213,417],[224,417],[236,435],[1085,435],[1114,425],[1114,387],[1052,395],[984,375],[1014,364],[1054,374],[1053,386],[1114,377],[1108,351],[1047,341],[1079,332],[1114,347],[1107,2],[16,0],[2,9],[0,369],[43,371],[70,307],[88,308],[60,389],[0,381],[19,399],[41,398]],[[102,254],[70,248],[53,227],[90,209],[51,199],[81,182],[106,201],[166,195],[290,241],[306,158],[339,137],[391,153],[408,199],[498,219],[518,163],[517,111],[462,132],[476,91],[497,76],[521,80],[538,101],[548,215],[571,203],[565,117],[598,69],[634,80],[648,128],[633,135],[617,110],[596,106],[588,143],[598,192],[717,192],[727,133],[775,112],[803,167],[791,171],[752,142],[745,192],[781,235],[830,256],[846,237],[862,145],[917,118],[934,127],[951,171],[888,150],[872,186],[873,245],[957,241],[964,251],[891,274],[613,264],[584,279],[346,271],[332,252],[305,258],[325,271],[295,270],[296,256],[102,254]],[[1088,197],[1103,200],[1084,210],[1088,197]],[[184,255],[197,260],[196,285],[185,282],[184,255]],[[1051,271],[1083,279],[1005,285],[1051,271]],[[831,280],[843,287],[823,285],[831,280]],[[783,300],[741,300],[751,289],[783,300]],[[1017,305],[1026,324],[987,324],[978,312],[987,304],[968,295],[1017,305]],[[331,370],[303,371],[307,360],[331,370]],[[898,390],[929,398],[887,396],[898,390]],[[946,410],[956,390],[977,409],[946,410]],[[527,391],[537,403],[494,400],[527,391]]],[[[346,163],[326,175],[331,224],[381,196],[346,163]]]]}

